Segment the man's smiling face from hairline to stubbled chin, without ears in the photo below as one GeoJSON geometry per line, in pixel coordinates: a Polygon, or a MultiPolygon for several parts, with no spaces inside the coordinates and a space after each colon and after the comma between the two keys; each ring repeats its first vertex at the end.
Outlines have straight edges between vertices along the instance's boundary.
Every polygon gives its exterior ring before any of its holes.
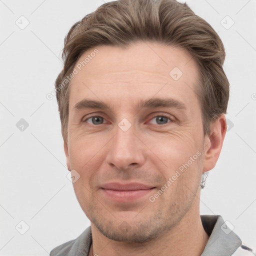
{"type": "Polygon", "coordinates": [[[91,225],[110,239],[148,241],[198,209],[197,66],[160,43],[97,50],[71,80],[67,165],[80,175],[73,186],[91,225]]]}

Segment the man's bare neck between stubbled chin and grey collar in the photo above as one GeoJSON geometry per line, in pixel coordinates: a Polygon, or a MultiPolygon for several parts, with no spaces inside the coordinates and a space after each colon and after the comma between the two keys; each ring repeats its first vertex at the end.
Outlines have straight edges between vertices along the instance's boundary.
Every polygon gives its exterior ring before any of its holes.
{"type": "Polygon", "coordinates": [[[209,237],[201,223],[199,199],[197,200],[193,202],[190,210],[179,223],[156,239],[144,243],[127,243],[111,240],[101,234],[91,223],[92,246],[89,255],[201,255],[209,237]]]}

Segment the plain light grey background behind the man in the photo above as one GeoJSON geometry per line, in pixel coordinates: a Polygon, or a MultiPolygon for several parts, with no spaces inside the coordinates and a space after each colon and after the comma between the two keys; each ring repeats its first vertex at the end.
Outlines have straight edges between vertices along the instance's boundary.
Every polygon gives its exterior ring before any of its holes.
{"type": "MultiPolygon", "coordinates": [[[[89,225],[66,177],[56,99],[46,94],[68,29],[103,2],[0,0],[0,255],[48,255],[89,225]]],[[[201,191],[200,213],[222,215],[255,249],[256,0],[186,2],[221,37],[230,82],[229,130],[201,191]]]]}

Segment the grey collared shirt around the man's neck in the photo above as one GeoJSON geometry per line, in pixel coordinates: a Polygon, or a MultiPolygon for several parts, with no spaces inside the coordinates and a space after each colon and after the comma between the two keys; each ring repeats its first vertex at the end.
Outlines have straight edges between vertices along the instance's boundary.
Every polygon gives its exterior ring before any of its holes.
{"type": "MultiPolygon", "coordinates": [[[[208,242],[201,256],[252,256],[250,248],[226,225],[220,215],[201,215],[208,242]]],[[[76,239],[65,242],[51,250],[50,256],[88,256],[92,243],[91,228],[87,227],[76,239]]]]}

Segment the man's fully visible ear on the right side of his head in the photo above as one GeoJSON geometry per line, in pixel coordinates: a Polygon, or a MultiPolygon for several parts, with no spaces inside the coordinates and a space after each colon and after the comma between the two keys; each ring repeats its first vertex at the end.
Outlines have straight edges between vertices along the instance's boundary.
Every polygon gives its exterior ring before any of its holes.
{"type": "Polygon", "coordinates": [[[210,134],[204,138],[204,162],[203,171],[211,170],[219,157],[223,140],[226,134],[226,118],[221,114],[219,118],[210,125],[210,134]]]}

